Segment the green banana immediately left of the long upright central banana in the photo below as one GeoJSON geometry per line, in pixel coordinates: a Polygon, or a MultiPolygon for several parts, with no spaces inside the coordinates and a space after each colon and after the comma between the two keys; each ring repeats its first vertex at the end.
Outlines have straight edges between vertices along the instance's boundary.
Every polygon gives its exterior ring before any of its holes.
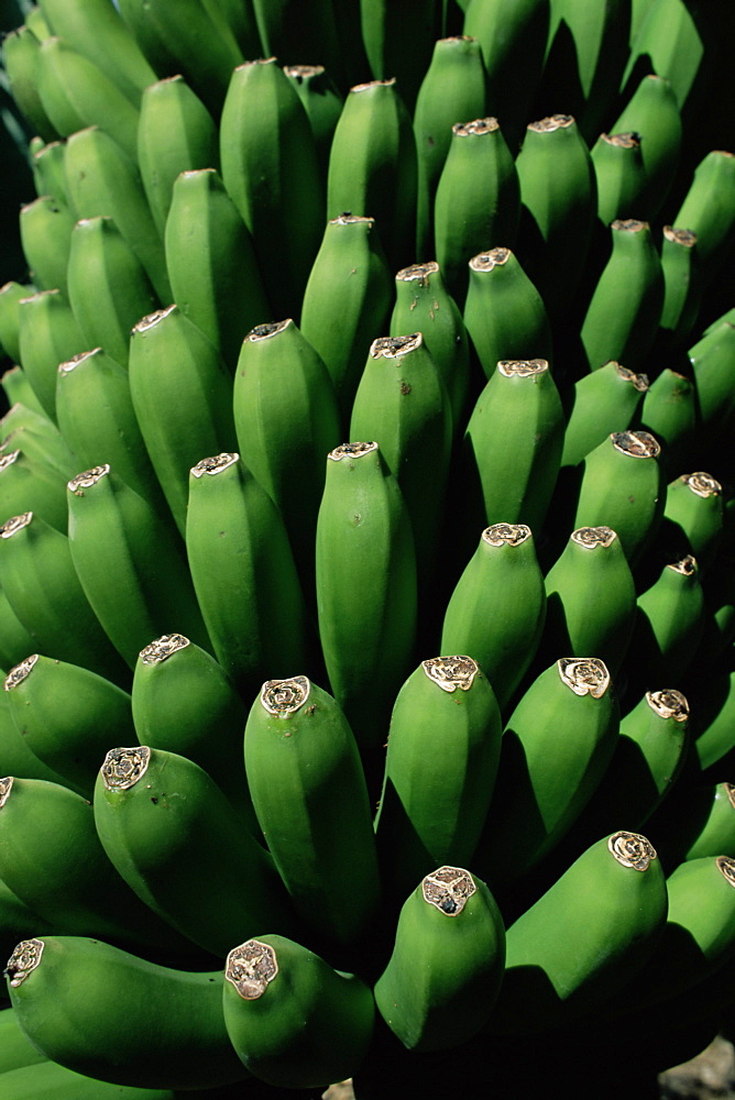
{"type": "Polygon", "coordinates": [[[288,536],[237,451],[191,468],[186,550],[213,652],[245,698],[268,669],[307,666],[306,606],[288,536]]]}

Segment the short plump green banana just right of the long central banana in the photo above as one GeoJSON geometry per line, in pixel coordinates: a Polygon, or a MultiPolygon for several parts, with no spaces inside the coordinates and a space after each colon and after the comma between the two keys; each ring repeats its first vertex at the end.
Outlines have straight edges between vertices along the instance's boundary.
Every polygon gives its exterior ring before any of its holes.
{"type": "Polygon", "coordinates": [[[472,653],[503,708],[534,658],[545,616],[530,528],[495,524],[482,532],[449,600],[441,651],[472,653]]]}

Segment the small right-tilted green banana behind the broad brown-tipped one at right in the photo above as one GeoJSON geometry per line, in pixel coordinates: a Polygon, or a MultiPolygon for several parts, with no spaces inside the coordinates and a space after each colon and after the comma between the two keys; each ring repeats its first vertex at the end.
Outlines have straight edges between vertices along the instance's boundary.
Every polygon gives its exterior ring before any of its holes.
{"type": "Polygon", "coordinates": [[[614,360],[575,382],[562,398],[567,428],[561,465],[578,465],[611,431],[625,431],[635,424],[647,391],[645,374],[628,371],[614,360]]]}

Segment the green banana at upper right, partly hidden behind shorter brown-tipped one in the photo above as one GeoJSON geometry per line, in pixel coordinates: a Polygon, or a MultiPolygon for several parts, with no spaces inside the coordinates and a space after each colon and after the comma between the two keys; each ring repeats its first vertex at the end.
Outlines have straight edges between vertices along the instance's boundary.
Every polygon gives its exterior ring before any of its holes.
{"type": "Polygon", "coordinates": [[[611,127],[611,133],[626,132],[633,132],[640,139],[640,157],[647,180],[645,201],[637,207],[637,212],[645,209],[648,218],[655,218],[676,177],[682,142],[677,97],[673,85],[665,76],[649,73],[641,79],[623,113],[611,127]]]}

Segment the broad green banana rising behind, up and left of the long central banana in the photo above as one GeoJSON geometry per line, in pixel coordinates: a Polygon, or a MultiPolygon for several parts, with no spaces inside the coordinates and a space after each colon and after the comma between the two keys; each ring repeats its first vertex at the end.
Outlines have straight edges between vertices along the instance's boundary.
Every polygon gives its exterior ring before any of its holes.
{"type": "Polygon", "coordinates": [[[310,594],[325,454],[341,438],[329,372],[293,320],[259,324],[242,342],[232,399],[242,461],[281,510],[310,594]]]}

